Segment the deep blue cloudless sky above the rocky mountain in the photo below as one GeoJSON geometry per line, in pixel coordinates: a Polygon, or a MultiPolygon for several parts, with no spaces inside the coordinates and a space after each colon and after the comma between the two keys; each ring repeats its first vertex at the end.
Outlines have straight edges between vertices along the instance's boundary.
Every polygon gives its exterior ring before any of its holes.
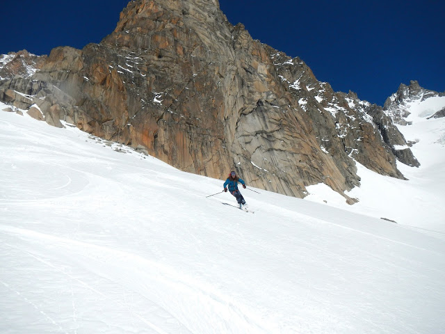
{"type": "MultiPolygon", "coordinates": [[[[184,0],[186,1],[186,0],[184,0]]],[[[0,54],[49,54],[100,42],[127,0],[3,1],[0,54]]],[[[288,56],[318,80],[382,105],[399,84],[445,91],[445,1],[220,0],[229,22],[288,56]]]]}

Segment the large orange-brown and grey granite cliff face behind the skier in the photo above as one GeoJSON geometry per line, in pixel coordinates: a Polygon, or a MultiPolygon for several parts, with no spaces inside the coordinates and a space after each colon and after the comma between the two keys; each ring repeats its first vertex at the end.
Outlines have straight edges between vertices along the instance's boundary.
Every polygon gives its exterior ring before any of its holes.
{"type": "Polygon", "coordinates": [[[405,139],[380,106],[252,40],[216,0],[130,1],[101,43],[56,48],[35,67],[2,76],[0,100],[191,173],[225,179],[235,169],[297,197],[323,182],[353,203],[343,192],[359,185],[355,161],[398,178],[396,157],[418,164],[396,154],[405,139]]]}

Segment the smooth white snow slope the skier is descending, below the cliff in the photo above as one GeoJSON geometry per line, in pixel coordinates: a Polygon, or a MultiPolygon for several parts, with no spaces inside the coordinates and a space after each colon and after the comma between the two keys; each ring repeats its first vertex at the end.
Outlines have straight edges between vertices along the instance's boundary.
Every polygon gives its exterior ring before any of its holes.
{"type": "Polygon", "coordinates": [[[0,333],[444,331],[443,232],[259,189],[248,214],[26,114],[0,112],[0,166],[0,333]]]}

